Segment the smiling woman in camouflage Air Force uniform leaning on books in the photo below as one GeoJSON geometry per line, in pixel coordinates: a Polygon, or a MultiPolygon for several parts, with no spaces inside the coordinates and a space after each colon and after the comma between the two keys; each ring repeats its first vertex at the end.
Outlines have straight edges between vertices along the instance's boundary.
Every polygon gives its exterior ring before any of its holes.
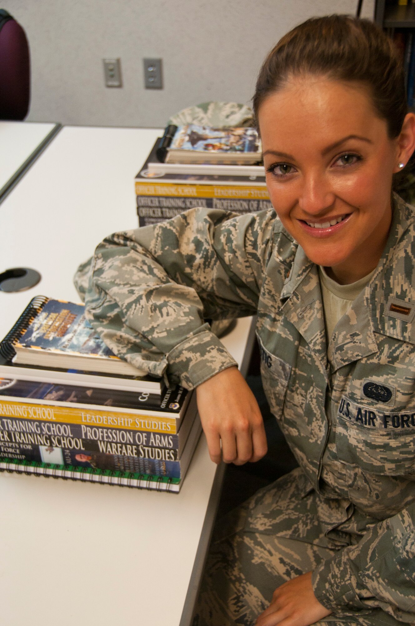
{"type": "Polygon", "coordinates": [[[98,246],[85,292],[109,346],[197,388],[213,461],[261,458],[261,414],[204,318],[257,313],[267,398],[299,468],[214,538],[194,623],[415,622],[415,147],[373,24],[307,21],[254,96],[272,210],[191,210],[98,246]],[[277,214],[277,215],[276,215],[277,214]]]}

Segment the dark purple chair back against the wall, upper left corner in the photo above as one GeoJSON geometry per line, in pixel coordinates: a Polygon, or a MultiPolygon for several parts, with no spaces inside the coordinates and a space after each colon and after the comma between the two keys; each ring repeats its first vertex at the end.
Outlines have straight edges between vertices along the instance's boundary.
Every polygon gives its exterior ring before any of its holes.
{"type": "Polygon", "coordinates": [[[0,120],[23,120],[30,101],[30,56],[24,30],[0,9],[0,120]]]}

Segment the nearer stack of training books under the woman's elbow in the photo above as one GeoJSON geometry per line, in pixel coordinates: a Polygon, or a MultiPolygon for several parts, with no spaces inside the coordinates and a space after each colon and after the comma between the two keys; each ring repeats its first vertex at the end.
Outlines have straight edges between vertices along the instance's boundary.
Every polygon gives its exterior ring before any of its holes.
{"type": "Polygon", "coordinates": [[[38,296],[0,343],[0,470],[178,493],[196,394],[116,357],[84,305],[38,296]]]}

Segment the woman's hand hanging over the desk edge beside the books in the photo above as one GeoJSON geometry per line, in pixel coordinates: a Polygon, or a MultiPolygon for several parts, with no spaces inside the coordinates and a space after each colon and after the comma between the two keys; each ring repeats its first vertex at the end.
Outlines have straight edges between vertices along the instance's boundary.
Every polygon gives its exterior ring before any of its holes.
{"type": "Polygon", "coordinates": [[[267,451],[261,411],[237,367],[227,367],[196,388],[197,408],[214,463],[258,461],[267,451]],[[221,448],[222,442],[222,448],[221,448]]]}

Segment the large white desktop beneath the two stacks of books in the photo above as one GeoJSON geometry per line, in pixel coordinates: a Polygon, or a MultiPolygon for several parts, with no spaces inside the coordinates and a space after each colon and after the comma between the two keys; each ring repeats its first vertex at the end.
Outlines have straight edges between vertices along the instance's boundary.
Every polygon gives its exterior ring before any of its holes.
{"type": "MultiPolygon", "coordinates": [[[[63,128],[4,200],[0,268],[33,267],[42,280],[0,292],[1,337],[34,295],[78,301],[79,262],[138,225],[134,176],[158,132],[63,128]]],[[[242,371],[249,324],[224,339],[242,371]]],[[[178,495],[0,474],[2,623],[187,625],[221,472],[202,436],[178,495]]]]}

